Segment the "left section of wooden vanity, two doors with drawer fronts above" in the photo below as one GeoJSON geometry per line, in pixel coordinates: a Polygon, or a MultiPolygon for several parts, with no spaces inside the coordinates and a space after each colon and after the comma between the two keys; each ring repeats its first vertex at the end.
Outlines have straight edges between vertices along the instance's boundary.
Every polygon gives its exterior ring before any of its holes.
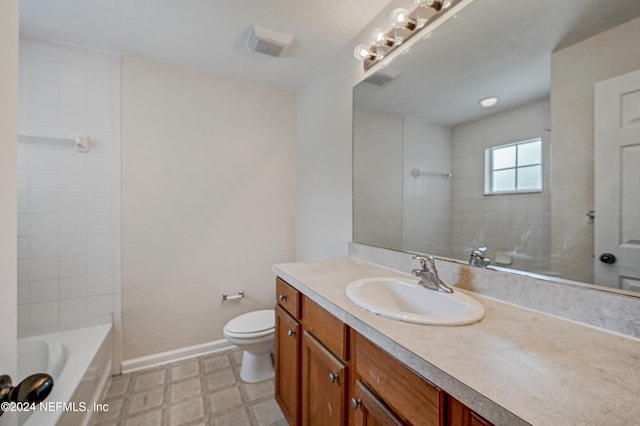
{"type": "Polygon", "coordinates": [[[294,425],[346,425],[349,328],[276,279],[275,397],[294,425]]]}

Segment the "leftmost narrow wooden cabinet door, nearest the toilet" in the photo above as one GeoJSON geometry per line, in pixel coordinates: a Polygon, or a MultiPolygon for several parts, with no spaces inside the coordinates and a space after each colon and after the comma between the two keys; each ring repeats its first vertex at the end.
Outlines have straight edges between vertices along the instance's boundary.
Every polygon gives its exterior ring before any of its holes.
{"type": "Polygon", "coordinates": [[[276,305],[275,396],[291,426],[300,424],[300,325],[276,305]]]}

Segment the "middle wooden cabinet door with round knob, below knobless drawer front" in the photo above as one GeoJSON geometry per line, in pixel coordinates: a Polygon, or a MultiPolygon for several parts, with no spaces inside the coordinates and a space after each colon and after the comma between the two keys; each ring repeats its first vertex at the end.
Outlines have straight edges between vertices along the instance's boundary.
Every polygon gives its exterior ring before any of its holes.
{"type": "Polygon", "coordinates": [[[347,368],[306,331],[302,335],[302,424],[346,424],[347,368]]]}

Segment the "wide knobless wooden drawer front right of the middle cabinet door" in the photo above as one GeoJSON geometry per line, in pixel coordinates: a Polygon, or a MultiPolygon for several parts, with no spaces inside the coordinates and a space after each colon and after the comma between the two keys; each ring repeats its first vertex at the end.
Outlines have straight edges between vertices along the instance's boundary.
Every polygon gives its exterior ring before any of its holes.
{"type": "Polygon", "coordinates": [[[444,425],[446,394],[364,337],[355,339],[357,376],[405,423],[444,425]]]}

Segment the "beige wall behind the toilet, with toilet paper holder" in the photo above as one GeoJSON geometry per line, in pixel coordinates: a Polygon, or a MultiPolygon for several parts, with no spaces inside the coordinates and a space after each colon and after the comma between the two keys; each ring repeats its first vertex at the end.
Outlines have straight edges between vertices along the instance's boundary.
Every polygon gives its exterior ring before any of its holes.
{"type": "Polygon", "coordinates": [[[222,339],[294,258],[295,97],[124,58],[122,114],[123,358],[222,339]]]}

